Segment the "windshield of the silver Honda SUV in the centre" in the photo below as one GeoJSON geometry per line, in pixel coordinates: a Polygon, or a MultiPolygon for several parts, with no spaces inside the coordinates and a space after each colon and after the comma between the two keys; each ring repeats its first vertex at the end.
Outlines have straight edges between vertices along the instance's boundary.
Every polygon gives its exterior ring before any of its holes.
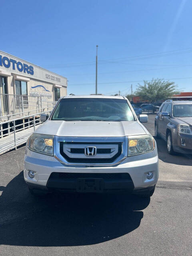
{"type": "Polygon", "coordinates": [[[52,120],[134,121],[134,116],[123,99],[66,98],[60,100],[52,120]]]}

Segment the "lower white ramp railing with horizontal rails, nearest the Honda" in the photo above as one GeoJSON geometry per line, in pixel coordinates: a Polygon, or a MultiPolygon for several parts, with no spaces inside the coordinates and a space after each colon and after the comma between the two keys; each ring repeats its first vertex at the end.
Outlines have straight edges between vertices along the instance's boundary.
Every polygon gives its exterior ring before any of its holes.
{"type": "Polygon", "coordinates": [[[38,116],[29,115],[25,116],[25,118],[17,118],[14,120],[2,122],[0,124],[0,154],[3,154],[12,149],[17,149],[18,146],[24,144],[28,140],[28,137],[32,134],[32,132],[34,132],[36,127],[42,123],[40,121],[40,114],[50,113],[51,111],[52,110],[38,113],[38,116]],[[24,120],[24,122],[18,123],[18,121],[20,120],[24,120]],[[7,127],[3,128],[3,125],[6,126],[6,124],[7,127]],[[30,129],[32,127],[33,129],[30,129]],[[4,132],[6,133],[4,134],[4,132]],[[4,135],[8,134],[11,136],[7,136],[6,138],[4,138],[4,135]]]}

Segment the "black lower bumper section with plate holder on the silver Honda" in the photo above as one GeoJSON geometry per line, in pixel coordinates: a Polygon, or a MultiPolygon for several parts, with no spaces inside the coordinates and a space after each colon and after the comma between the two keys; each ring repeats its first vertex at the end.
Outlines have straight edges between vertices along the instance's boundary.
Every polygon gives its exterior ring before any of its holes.
{"type": "MultiPolygon", "coordinates": [[[[28,182],[27,182],[28,183],[28,182]]],[[[30,188],[43,189],[43,186],[30,188]]],[[[49,191],[60,190],[64,192],[115,192],[133,191],[134,184],[126,173],[66,173],[52,172],[47,185],[49,191]]]]}

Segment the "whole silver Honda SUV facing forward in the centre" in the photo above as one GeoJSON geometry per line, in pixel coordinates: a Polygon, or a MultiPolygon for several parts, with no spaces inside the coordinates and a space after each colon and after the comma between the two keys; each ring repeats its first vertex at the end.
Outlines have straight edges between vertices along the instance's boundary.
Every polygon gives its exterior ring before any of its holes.
{"type": "Polygon", "coordinates": [[[123,96],[66,96],[30,136],[24,179],[32,194],[127,191],[152,196],[158,153],[123,96]]]}

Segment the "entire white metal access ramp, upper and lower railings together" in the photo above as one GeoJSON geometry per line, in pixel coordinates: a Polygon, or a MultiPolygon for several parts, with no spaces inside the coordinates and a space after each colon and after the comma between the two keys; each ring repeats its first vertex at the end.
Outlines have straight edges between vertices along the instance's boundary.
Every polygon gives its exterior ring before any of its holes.
{"type": "Polygon", "coordinates": [[[0,94],[0,154],[24,144],[56,102],[40,96],[0,94]]]}

